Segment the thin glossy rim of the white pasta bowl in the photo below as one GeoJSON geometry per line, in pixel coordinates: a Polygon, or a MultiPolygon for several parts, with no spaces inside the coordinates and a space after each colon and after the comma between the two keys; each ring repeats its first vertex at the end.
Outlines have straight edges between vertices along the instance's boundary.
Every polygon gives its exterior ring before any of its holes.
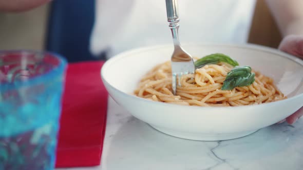
{"type": "MultiPolygon", "coordinates": [[[[218,47],[234,47],[234,48],[241,48],[241,49],[252,49],[252,50],[257,50],[257,51],[263,51],[263,52],[267,52],[267,53],[272,53],[274,55],[278,55],[280,57],[283,57],[283,58],[287,58],[287,59],[290,59],[296,63],[298,63],[302,69],[303,69],[303,60],[296,57],[296,56],[293,56],[293,55],[290,55],[288,53],[285,53],[285,52],[282,52],[282,51],[279,51],[277,49],[274,49],[274,48],[271,48],[271,47],[265,47],[265,46],[260,46],[260,45],[255,45],[255,44],[212,44],[212,43],[206,43],[206,44],[197,44],[197,43],[187,43],[187,44],[184,44],[183,46],[218,46],[218,47]]],[[[125,52],[122,52],[122,53],[119,53],[115,56],[113,56],[112,58],[108,59],[104,65],[102,66],[101,68],[101,78],[103,80],[103,82],[109,84],[109,86],[114,89],[115,91],[119,92],[121,95],[124,95],[124,96],[127,96],[127,97],[130,97],[132,99],[135,99],[135,100],[140,100],[142,102],[147,102],[147,103],[150,103],[150,104],[160,104],[160,105],[163,105],[163,107],[166,106],[172,106],[172,103],[164,103],[164,102],[156,102],[156,101],[151,101],[151,100],[146,100],[144,98],[141,98],[141,97],[138,97],[138,96],[135,96],[135,95],[132,95],[132,94],[127,94],[127,93],[124,93],[122,92],[121,90],[113,87],[110,85],[110,83],[108,83],[108,81],[106,80],[106,78],[104,77],[104,71],[106,70],[106,68],[108,66],[111,65],[111,63],[115,62],[116,60],[119,60],[120,58],[124,57],[125,56],[131,56],[130,54],[135,54],[135,53],[141,53],[141,52],[144,52],[144,51],[150,51],[150,50],[155,50],[155,49],[160,49],[160,48],[171,48],[173,47],[171,44],[163,44],[163,45],[156,45],[156,46],[146,46],[146,47],[139,47],[139,48],[135,48],[135,49],[130,49],[130,50],[127,50],[125,52]]],[[[298,95],[295,95],[293,97],[290,97],[290,98],[287,98],[287,99],[283,99],[283,100],[278,100],[278,101],[274,101],[274,102],[269,102],[269,103],[261,103],[261,104],[253,104],[253,105],[240,105],[240,106],[237,106],[237,107],[200,107],[200,106],[196,106],[196,105],[179,105],[179,104],[174,104],[174,108],[178,109],[178,108],[192,108],[192,109],[199,109],[199,110],[203,110],[203,109],[207,109],[207,110],[218,110],[218,109],[232,109],[234,110],[235,108],[243,108],[243,109],[248,109],[248,108],[256,108],[256,107],[263,107],[263,106],[268,106],[268,107],[271,107],[273,105],[276,105],[276,104],[279,104],[279,103],[284,103],[286,101],[292,101],[292,100],[296,100],[298,98],[303,98],[303,93],[300,93],[298,95]]],[[[301,106],[303,107],[303,105],[301,106]]]]}

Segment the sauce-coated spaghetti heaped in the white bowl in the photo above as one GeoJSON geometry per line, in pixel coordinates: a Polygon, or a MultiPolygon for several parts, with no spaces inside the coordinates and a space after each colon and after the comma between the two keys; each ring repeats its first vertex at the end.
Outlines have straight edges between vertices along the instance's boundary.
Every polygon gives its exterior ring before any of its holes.
{"type": "Polygon", "coordinates": [[[224,62],[196,69],[195,74],[180,78],[181,86],[177,86],[174,95],[171,62],[167,61],[154,67],[141,79],[135,95],[153,101],[203,107],[251,105],[286,98],[274,86],[273,79],[254,71],[255,81],[250,86],[221,90],[226,74],[232,69],[224,62]]]}

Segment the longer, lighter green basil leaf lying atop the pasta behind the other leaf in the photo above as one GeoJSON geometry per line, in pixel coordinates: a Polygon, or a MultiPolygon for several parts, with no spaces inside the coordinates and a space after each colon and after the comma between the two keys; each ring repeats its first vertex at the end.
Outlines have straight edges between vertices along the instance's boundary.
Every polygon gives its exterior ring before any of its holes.
{"type": "Polygon", "coordinates": [[[207,55],[203,58],[198,59],[195,62],[195,67],[196,67],[196,69],[198,69],[205,65],[214,65],[218,62],[226,62],[232,66],[239,66],[239,63],[236,60],[232,59],[231,57],[224,55],[224,54],[216,53],[216,54],[207,55]]]}

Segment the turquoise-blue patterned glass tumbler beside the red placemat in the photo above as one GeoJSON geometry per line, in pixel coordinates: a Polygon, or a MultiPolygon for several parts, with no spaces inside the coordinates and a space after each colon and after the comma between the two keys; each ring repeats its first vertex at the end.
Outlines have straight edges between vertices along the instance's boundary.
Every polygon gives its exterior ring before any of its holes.
{"type": "Polygon", "coordinates": [[[50,170],[66,60],[36,51],[0,51],[0,170],[50,170]]]}

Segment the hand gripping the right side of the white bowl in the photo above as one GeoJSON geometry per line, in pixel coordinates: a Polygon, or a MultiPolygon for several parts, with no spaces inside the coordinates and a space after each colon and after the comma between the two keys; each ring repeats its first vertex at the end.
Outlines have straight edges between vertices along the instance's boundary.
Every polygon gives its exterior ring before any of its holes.
{"type": "MultiPolygon", "coordinates": [[[[281,41],[279,50],[303,59],[303,35],[288,35],[281,41]]],[[[302,75],[303,76],[303,75],[302,75]]],[[[290,124],[295,123],[303,115],[303,107],[286,118],[290,124]]],[[[284,120],[285,121],[285,120],[284,120]]],[[[281,121],[282,122],[282,121],[281,121]]]]}

